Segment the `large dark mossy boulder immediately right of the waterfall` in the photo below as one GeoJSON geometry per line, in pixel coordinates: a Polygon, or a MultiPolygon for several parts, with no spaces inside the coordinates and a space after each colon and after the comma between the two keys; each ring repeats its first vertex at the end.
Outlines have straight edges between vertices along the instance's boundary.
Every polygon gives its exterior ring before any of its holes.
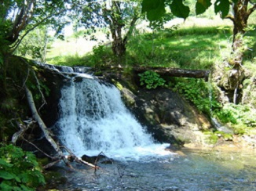
{"type": "Polygon", "coordinates": [[[166,88],[141,89],[136,95],[127,88],[121,92],[126,106],[159,142],[199,146],[204,142],[203,130],[209,130],[210,122],[177,92],[166,88]]]}

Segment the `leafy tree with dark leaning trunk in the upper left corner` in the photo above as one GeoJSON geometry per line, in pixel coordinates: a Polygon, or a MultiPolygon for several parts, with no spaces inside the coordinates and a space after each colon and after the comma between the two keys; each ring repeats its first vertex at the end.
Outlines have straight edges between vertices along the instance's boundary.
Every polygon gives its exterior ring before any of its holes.
{"type": "Polygon", "coordinates": [[[6,70],[24,37],[39,25],[48,23],[60,32],[78,2],[75,0],[4,0],[0,2],[0,99],[5,99],[6,70]],[[72,2],[72,4],[70,4],[72,2]]]}

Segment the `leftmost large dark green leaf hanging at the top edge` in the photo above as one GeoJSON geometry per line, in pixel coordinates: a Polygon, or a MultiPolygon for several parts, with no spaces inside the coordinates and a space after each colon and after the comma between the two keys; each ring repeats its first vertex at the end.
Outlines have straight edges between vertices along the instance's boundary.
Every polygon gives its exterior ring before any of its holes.
{"type": "Polygon", "coordinates": [[[150,21],[159,20],[166,13],[164,0],[143,0],[142,13],[147,13],[150,21]]]}

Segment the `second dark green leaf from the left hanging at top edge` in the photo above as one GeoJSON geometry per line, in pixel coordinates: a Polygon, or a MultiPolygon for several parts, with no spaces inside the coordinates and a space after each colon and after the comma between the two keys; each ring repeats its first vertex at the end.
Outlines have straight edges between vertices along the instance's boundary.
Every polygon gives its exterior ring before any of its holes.
{"type": "Polygon", "coordinates": [[[182,0],[173,0],[170,4],[170,10],[174,16],[186,19],[189,15],[189,7],[183,4],[182,0]]]}

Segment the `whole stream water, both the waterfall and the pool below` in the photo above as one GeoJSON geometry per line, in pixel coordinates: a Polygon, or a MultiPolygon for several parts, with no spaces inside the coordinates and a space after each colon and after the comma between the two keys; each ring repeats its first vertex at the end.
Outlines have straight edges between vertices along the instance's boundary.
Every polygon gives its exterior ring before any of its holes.
{"type": "Polygon", "coordinates": [[[60,165],[61,190],[255,190],[256,153],[164,150],[123,105],[118,89],[69,81],[61,92],[59,139],[76,155],[103,152],[113,164],[94,171],[60,165]]]}

